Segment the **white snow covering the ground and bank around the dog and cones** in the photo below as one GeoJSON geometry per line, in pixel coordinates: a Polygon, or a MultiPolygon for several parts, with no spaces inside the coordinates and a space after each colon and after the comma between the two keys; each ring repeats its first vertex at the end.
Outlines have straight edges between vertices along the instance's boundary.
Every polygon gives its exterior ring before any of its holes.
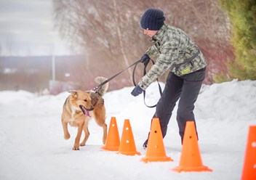
{"type": "MultiPolygon", "coordinates": [[[[132,97],[132,89],[109,91],[104,99],[106,123],[116,117],[120,137],[124,119],[129,119],[137,151],[142,154],[135,156],[101,150],[103,131],[94,120],[89,123],[87,145],[73,151],[76,128],[69,126],[71,139],[65,140],[60,123],[68,92],[39,96],[22,90],[0,91],[0,179],[241,179],[249,126],[256,124],[256,81],[234,80],[201,88],[194,113],[201,158],[212,172],[171,170],[179,165],[182,148],[177,107],[164,138],[167,156],[174,161],[141,161],[154,108],[144,105],[143,95],[132,97]]],[[[153,83],[146,103],[153,105],[158,99],[153,83]]]]}

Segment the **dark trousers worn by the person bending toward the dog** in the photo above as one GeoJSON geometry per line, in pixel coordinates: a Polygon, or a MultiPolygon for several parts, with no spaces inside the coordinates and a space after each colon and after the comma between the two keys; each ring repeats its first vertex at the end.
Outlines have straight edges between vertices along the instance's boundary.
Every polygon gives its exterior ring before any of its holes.
{"type": "Polygon", "coordinates": [[[156,113],[153,115],[153,118],[159,118],[160,120],[163,138],[167,134],[167,125],[172,116],[172,110],[177,100],[180,99],[177,107],[177,124],[183,142],[185,123],[188,120],[195,121],[193,115],[194,103],[201,89],[204,74],[205,68],[182,77],[172,72],[169,73],[163,94],[156,105],[156,113]]]}

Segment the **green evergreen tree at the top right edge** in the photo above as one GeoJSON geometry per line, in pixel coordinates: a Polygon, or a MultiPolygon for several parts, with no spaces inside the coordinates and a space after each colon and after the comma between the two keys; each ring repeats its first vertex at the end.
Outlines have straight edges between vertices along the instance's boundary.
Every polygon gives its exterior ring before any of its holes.
{"type": "MultiPolygon", "coordinates": [[[[235,61],[228,61],[228,73],[239,80],[256,79],[256,1],[219,0],[233,25],[235,61]]],[[[220,77],[217,77],[221,81],[220,77]]]]}

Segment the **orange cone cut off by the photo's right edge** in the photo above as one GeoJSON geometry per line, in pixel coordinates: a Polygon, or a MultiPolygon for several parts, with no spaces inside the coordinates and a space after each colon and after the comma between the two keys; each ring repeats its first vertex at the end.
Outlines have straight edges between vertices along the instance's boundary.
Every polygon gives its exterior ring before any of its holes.
{"type": "Polygon", "coordinates": [[[256,179],[256,126],[249,126],[247,150],[241,179],[256,179]]]}

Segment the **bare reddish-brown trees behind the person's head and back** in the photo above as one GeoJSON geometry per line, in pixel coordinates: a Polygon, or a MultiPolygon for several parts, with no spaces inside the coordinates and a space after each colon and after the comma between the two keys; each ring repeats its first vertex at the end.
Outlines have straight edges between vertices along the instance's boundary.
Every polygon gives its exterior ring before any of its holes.
{"type": "MultiPolygon", "coordinates": [[[[140,17],[150,7],[162,9],[166,23],[182,28],[199,44],[208,60],[205,83],[212,83],[213,74],[225,72],[223,61],[232,56],[227,18],[215,0],[52,2],[60,33],[87,53],[86,72],[94,70],[110,77],[145,53],[151,43],[140,28],[140,17]]],[[[113,83],[118,87],[129,86],[131,76],[132,70],[127,70],[121,78],[111,81],[111,86],[113,83]]]]}

